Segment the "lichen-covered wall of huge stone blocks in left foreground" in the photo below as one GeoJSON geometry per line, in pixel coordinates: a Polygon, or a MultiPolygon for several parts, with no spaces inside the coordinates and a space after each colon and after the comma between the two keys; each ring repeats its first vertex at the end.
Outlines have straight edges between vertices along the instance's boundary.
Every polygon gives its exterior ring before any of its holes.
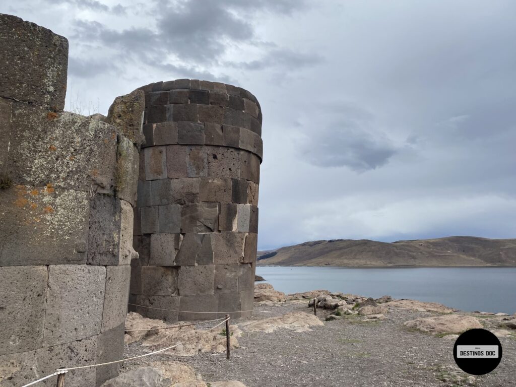
{"type": "Polygon", "coordinates": [[[143,93],[115,104],[125,122],[65,112],[67,61],[66,38],[0,14],[2,386],[123,357],[143,93]]]}

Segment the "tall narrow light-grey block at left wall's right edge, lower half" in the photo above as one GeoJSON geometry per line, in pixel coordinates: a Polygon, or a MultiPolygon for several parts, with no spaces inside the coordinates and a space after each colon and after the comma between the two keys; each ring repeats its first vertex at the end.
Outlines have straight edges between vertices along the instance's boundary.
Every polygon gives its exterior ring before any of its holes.
{"type": "Polygon", "coordinates": [[[109,331],[124,324],[127,314],[130,279],[130,265],[106,267],[106,291],[101,332],[109,331]]]}

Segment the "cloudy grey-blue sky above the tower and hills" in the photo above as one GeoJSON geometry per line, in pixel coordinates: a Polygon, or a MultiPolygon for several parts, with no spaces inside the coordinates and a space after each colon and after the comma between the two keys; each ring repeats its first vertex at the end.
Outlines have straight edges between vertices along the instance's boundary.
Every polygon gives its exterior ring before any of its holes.
{"type": "Polygon", "coordinates": [[[70,41],[67,109],[220,80],[263,110],[259,249],[516,237],[513,0],[3,0],[70,41]]]}

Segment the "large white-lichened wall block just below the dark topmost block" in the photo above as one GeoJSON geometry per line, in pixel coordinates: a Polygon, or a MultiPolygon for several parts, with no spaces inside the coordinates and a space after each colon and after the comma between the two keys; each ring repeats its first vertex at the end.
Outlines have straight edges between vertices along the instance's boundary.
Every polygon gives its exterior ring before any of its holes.
{"type": "Polygon", "coordinates": [[[13,103],[6,172],[15,184],[113,194],[117,138],[98,119],[13,103]]]}

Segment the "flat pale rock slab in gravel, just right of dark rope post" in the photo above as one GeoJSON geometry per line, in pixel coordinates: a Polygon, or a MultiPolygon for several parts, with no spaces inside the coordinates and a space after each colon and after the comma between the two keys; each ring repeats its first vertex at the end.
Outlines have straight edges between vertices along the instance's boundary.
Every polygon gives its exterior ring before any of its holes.
{"type": "Polygon", "coordinates": [[[313,314],[303,312],[291,312],[282,316],[270,317],[263,320],[241,322],[239,328],[244,331],[266,333],[273,332],[279,328],[291,329],[296,332],[310,331],[310,327],[324,325],[313,314]]]}

